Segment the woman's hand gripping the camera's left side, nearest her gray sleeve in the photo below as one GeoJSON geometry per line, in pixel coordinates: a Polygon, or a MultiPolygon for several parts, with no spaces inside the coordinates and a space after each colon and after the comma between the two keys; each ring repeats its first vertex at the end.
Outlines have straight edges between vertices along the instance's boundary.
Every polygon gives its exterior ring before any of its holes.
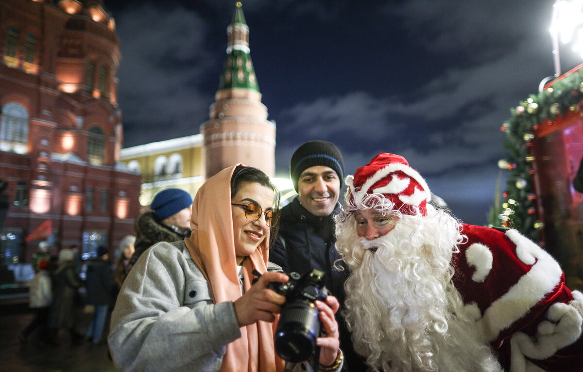
{"type": "Polygon", "coordinates": [[[266,272],[261,275],[261,278],[234,302],[239,327],[253,324],[258,320],[274,321],[273,314],[280,312],[281,305],[286,302],[286,297],[268,289],[267,286],[271,282],[285,283],[287,281],[289,278],[282,272],[266,272]]]}

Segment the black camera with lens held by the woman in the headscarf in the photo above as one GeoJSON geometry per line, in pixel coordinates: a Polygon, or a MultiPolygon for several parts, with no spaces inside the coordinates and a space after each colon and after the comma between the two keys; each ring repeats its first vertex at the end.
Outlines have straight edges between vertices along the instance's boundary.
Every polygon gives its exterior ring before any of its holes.
{"type": "Polygon", "coordinates": [[[286,296],[275,331],[275,350],[283,360],[303,362],[314,353],[321,328],[319,310],[314,302],[324,301],[330,292],[324,286],[325,273],[321,270],[287,275],[287,283],[271,282],[268,285],[269,289],[286,296]]]}

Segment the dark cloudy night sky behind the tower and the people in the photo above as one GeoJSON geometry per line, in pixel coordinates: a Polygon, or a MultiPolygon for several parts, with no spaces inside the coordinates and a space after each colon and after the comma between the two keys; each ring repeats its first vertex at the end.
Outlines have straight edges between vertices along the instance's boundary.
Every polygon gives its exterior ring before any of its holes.
{"type": "MultiPolygon", "coordinates": [[[[487,223],[504,158],[500,125],[554,73],[554,1],[242,2],[259,89],[277,125],[277,175],[287,175],[308,140],[335,143],[349,174],[391,152],[458,218],[487,223]]],[[[124,147],[199,133],[234,2],[105,6],[121,42],[124,147]]],[[[561,48],[562,72],[578,63],[561,48]]]]}

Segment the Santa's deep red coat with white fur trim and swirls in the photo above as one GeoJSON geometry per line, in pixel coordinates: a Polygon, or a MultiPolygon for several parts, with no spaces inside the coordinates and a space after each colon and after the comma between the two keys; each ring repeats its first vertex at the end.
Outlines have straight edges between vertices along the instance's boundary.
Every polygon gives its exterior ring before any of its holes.
{"type": "Polygon", "coordinates": [[[462,226],[454,284],[504,369],[583,371],[583,295],[557,261],[516,230],[462,226]]]}

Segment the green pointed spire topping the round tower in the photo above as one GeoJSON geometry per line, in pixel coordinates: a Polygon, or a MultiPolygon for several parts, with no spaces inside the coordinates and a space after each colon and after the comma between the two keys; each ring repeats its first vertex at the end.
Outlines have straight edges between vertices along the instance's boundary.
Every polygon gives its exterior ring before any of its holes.
{"type": "Polygon", "coordinates": [[[259,92],[257,77],[251,62],[249,27],[245,22],[241,2],[235,4],[233,22],[227,27],[227,60],[220,76],[219,90],[241,88],[259,92]]]}

